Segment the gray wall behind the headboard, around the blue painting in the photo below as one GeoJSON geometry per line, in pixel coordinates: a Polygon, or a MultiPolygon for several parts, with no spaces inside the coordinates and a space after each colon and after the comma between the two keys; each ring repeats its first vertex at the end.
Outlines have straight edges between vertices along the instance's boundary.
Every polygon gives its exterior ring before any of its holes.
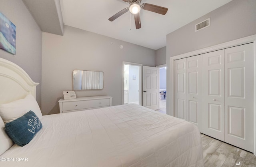
{"type": "Polygon", "coordinates": [[[16,26],[16,55],[0,49],[0,57],[25,70],[36,87],[36,100],[41,107],[42,31],[21,0],[1,0],[2,12],[16,26]]]}

